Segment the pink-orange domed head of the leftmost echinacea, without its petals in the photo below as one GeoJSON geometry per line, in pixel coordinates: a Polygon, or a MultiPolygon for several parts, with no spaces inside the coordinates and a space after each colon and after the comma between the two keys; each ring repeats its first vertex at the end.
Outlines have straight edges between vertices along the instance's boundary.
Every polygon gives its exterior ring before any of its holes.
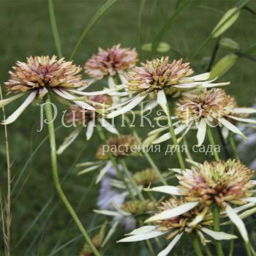
{"type": "Polygon", "coordinates": [[[72,61],[57,60],[56,56],[35,56],[27,62],[17,61],[17,67],[10,71],[10,80],[5,84],[7,91],[46,91],[52,88],[77,88],[83,86],[80,67],[72,61]]]}

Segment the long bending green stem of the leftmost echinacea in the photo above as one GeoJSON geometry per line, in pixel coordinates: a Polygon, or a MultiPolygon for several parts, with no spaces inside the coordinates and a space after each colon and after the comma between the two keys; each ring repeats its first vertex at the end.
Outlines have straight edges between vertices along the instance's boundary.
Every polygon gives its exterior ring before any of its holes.
{"type": "Polygon", "coordinates": [[[61,184],[59,181],[59,173],[57,167],[57,157],[56,157],[56,140],[55,140],[55,130],[53,124],[53,112],[50,106],[50,95],[48,94],[47,98],[45,99],[45,115],[48,121],[48,132],[49,132],[49,139],[50,139],[50,156],[51,156],[51,165],[53,171],[53,181],[56,186],[56,189],[63,201],[64,205],[67,207],[70,215],[74,219],[76,225],[80,232],[83,234],[83,237],[86,239],[86,243],[90,246],[91,250],[94,252],[94,255],[100,256],[98,250],[95,248],[94,244],[92,243],[91,239],[89,238],[88,233],[86,232],[85,227],[83,227],[82,222],[78,218],[78,215],[75,213],[74,209],[72,208],[69,200],[67,199],[66,195],[64,194],[63,189],[61,188],[61,184]]]}

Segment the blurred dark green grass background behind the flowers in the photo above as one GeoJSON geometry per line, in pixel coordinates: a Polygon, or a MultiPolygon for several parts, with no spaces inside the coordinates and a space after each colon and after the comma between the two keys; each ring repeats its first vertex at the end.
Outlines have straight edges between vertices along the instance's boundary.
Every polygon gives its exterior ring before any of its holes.
{"type": "MultiPolygon", "coordinates": [[[[154,40],[167,18],[175,12],[178,2],[118,0],[97,20],[86,35],[75,54],[75,63],[83,67],[84,62],[92,53],[97,52],[98,47],[108,48],[119,42],[124,47],[138,48],[141,61],[150,59],[151,53],[142,52],[140,47],[154,40]]],[[[54,1],[62,50],[67,59],[84,27],[104,3],[105,1],[99,0],[54,1]]],[[[169,43],[184,56],[191,56],[208,37],[222,15],[236,3],[236,0],[192,1],[165,31],[161,41],[169,43]]],[[[255,0],[249,1],[247,5],[256,11],[255,0]]],[[[255,45],[256,15],[242,10],[236,23],[224,36],[236,40],[242,50],[255,45]]],[[[56,54],[48,14],[48,1],[1,0],[0,37],[1,84],[8,80],[7,72],[15,61],[24,61],[26,56],[56,54]]],[[[216,40],[211,40],[192,61],[192,66],[197,72],[205,72],[215,44],[216,40]]],[[[227,50],[219,50],[216,61],[227,53],[229,53],[227,50]]],[[[172,50],[165,54],[169,55],[170,59],[178,58],[172,50]]],[[[249,54],[256,56],[256,51],[252,49],[249,54]]],[[[154,57],[156,56],[160,56],[159,53],[154,57]]],[[[227,87],[227,92],[236,97],[241,106],[250,106],[255,101],[255,73],[255,62],[240,58],[220,79],[232,82],[232,86],[227,87]]],[[[105,85],[105,81],[100,84],[105,85]]],[[[19,103],[8,106],[7,114],[12,113],[19,103]]],[[[59,108],[64,110],[63,106],[59,108]]],[[[2,120],[1,111],[0,118],[2,120]]],[[[56,195],[50,170],[48,140],[44,140],[47,129],[37,132],[38,128],[39,107],[32,106],[18,118],[18,121],[8,127],[13,177],[12,255],[78,255],[83,246],[83,238],[56,195]]],[[[139,129],[143,138],[147,131],[148,128],[139,129]]],[[[69,132],[70,130],[64,127],[58,129],[57,143],[61,143],[69,132]]],[[[192,139],[193,135],[191,135],[192,139]]],[[[4,143],[4,127],[0,127],[2,197],[6,195],[7,183],[4,143]]],[[[98,225],[104,221],[104,218],[91,214],[91,210],[95,208],[99,187],[93,183],[94,173],[88,176],[76,176],[78,170],[74,165],[93,160],[98,145],[99,139],[96,133],[89,143],[86,143],[85,134],[81,134],[79,140],[76,140],[72,147],[59,157],[60,176],[67,177],[63,183],[64,191],[78,210],[83,223],[91,230],[91,235],[97,233],[98,225]]],[[[152,157],[156,159],[161,170],[177,166],[175,157],[166,157],[164,152],[153,154],[152,157]]],[[[197,153],[195,158],[204,159],[205,155],[197,153]]],[[[141,158],[129,159],[131,170],[138,170],[138,166],[143,169],[148,167],[148,164],[141,158]]],[[[123,233],[124,231],[121,230],[115,238],[120,238],[123,233]]],[[[0,250],[4,253],[2,239],[0,250]]],[[[148,255],[146,249],[141,253],[148,255]]],[[[116,244],[113,239],[107,247],[106,255],[138,255],[138,244],[116,244]]]]}

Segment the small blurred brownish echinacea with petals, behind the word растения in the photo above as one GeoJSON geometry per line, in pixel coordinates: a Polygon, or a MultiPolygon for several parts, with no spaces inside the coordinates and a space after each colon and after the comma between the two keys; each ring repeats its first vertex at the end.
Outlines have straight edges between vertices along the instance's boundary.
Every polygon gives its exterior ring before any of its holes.
{"type": "Polygon", "coordinates": [[[113,163],[108,159],[108,152],[113,154],[113,157],[134,157],[138,155],[138,143],[132,135],[119,135],[110,137],[105,145],[100,145],[97,149],[96,162],[82,162],[76,167],[86,167],[81,170],[78,175],[89,173],[93,170],[100,170],[96,183],[102,180],[103,176],[108,173],[113,163]]]}

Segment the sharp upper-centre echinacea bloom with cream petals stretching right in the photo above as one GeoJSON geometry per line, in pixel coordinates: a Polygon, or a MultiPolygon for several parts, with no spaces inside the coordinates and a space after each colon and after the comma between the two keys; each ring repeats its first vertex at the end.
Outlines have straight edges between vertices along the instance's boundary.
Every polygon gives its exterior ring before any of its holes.
{"type": "Polygon", "coordinates": [[[125,86],[130,94],[136,94],[136,96],[129,99],[123,108],[119,108],[119,105],[117,105],[116,108],[119,109],[109,113],[108,118],[113,118],[132,110],[132,108],[135,108],[148,96],[157,95],[158,104],[161,106],[165,105],[166,90],[169,93],[170,89],[184,90],[197,86],[211,88],[229,84],[212,83],[213,80],[208,80],[210,77],[209,73],[190,76],[193,72],[189,63],[184,63],[182,59],[169,63],[168,57],[146,61],[145,64],[141,64],[141,67],[132,68],[127,73],[127,83],[125,86]]]}

